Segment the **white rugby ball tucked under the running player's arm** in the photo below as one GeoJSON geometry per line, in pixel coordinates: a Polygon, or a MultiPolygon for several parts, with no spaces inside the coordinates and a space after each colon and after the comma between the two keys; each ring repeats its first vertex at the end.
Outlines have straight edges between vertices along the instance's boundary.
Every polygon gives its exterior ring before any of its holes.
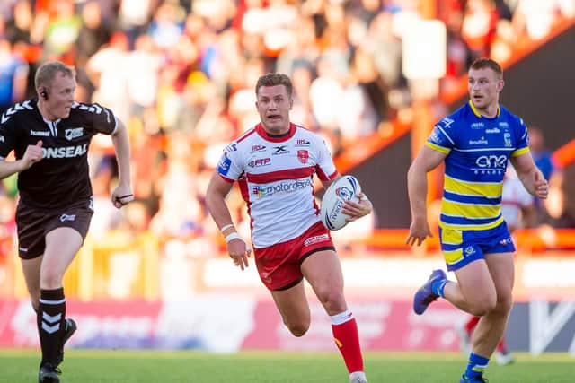
{"type": "Polygon", "coordinates": [[[358,178],[353,176],[341,176],[325,190],[320,208],[320,218],[323,226],[336,231],[347,225],[348,214],[341,213],[345,201],[359,202],[358,194],[361,193],[358,178]]]}

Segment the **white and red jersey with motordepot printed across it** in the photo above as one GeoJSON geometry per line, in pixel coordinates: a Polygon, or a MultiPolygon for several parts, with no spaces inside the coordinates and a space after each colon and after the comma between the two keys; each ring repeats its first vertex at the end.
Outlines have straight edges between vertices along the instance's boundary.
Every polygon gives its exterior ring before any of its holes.
{"type": "Polygon", "coordinates": [[[338,175],[323,138],[295,124],[281,137],[254,126],[226,146],[217,172],[238,181],[255,248],[295,239],[319,222],[314,173],[322,180],[338,175]]]}

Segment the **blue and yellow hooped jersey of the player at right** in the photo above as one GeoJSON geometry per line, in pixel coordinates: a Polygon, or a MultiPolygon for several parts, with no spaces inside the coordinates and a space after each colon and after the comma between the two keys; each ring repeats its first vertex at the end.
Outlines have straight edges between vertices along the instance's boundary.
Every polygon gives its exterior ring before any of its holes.
{"type": "Polygon", "coordinates": [[[495,118],[486,118],[470,100],[439,121],[426,144],[447,154],[439,226],[489,230],[500,225],[509,157],[529,151],[523,120],[502,106],[495,118]]]}

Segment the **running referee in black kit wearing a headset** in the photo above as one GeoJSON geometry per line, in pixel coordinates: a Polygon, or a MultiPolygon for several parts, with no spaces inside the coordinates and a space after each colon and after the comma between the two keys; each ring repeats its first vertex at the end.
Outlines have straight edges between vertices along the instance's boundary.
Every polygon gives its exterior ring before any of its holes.
{"type": "Polygon", "coordinates": [[[93,215],[87,152],[93,135],[111,135],[119,184],[117,208],[133,198],[126,127],[110,109],[75,102],[74,70],[57,61],[40,65],[38,98],[4,110],[0,118],[0,179],[18,173],[18,252],[37,313],[42,359],[39,382],[59,382],[63,347],[75,332],[66,318],[62,280],[82,246],[93,215]],[[15,161],[4,161],[10,152],[15,161]]]}

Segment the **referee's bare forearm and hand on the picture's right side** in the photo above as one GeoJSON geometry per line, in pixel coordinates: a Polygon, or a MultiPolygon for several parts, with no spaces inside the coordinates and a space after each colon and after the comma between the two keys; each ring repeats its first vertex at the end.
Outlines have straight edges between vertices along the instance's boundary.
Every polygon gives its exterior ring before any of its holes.
{"type": "Polygon", "coordinates": [[[120,208],[133,201],[134,194],[130,183],[128,129],[119,119],[117,119],[117,124],[111,135],[111,142],[114,144],[118,161],[118,187],[111,194],[111,202],[120,208]]]}

